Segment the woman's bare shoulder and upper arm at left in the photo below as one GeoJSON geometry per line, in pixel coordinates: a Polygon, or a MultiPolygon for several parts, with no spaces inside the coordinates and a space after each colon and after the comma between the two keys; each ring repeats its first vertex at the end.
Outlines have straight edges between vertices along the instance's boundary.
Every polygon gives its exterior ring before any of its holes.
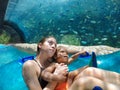
{"type": "MultiPolygon", "coordinates": [[[[24,78],[24,81],[28,85],[29,89],[33,87],[36,88],[39,86],[39,83],[38,83],[39,72],[38,71],[39,71],[39,68],[37,68],[37,64],[35,63],[34,60],[28,60],[23,64],[22,76],[24,78]]],[[[33,89],[30,89],[30,90],[33,90],[33,89]]]]}

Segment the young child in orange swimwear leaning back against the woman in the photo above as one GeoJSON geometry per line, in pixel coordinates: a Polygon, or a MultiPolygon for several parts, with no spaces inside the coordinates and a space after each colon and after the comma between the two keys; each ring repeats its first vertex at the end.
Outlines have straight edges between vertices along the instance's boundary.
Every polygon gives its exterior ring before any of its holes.
{"type": "MultiPolygon", "coordinates": [[[[42,72],[42,76],[44,77],[45,75],[47,75],[48,72],[50,72],[50,73],[54,72],[55,68],[57,68],[57,64],[60,64],[60,63],[66,64],[66,65],[70,64],[71,62],[73,62],[81,54],[85,55],[86,52],[85,51],[78,52],[76,54],[73,54],[69,58],[68,52],[67,52],[65,47],[63,47],[63,46],[57,47],[57,51],[56,51],[56,53],[54,55],[55,63],[50,65],[48,68],[46,68],[42,72]]],[[[67,90],[68,86],[70,86],[72,84],[72,81],[74,80],[75,76],[77,76],[82,70],[84,70],[87,67],[88,66],[85,66],[85,67],[79,68],[79,69],[77,69],[75,71],[69,72],[67,74],[67,80],[65,82],[59,82],[56,85],[56,88],[54,90],[67,90]]]]}

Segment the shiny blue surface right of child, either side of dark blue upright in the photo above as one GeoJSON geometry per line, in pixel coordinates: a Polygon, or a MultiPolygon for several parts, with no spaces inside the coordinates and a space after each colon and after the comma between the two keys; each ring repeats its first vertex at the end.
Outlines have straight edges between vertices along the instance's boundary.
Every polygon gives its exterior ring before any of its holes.
{"type": "MultiPolygon", "coordinates": [[[[82,66],[88,65],[90,63],[91,57],[78,58],[72,64],[69,65],[70,71],[80,68],[82,66]]],[[[120,73],[120,51],[112,54],[97,56],[97,66],[98,68],[115,71],[120,73]]]]}

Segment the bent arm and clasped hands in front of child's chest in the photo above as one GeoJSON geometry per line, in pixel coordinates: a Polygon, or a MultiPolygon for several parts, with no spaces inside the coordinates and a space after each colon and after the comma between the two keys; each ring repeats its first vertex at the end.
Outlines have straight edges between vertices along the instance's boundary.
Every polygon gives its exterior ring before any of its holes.
{"type": "Polygon", "coordinates": [[[54,63],[42,71],[41,77],[48,82],[63,82],[66,80],[66,68],[65,65],[54,63]]]}

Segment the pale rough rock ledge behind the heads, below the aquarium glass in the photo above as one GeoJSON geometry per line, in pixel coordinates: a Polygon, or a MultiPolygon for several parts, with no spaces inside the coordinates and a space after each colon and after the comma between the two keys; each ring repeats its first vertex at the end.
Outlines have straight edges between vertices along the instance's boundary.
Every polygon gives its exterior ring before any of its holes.
{"type": "MultiPolygon", "coordinates": [[[[37,51],[37,44],[28,44],[28,43],[17,43],[17,44],[9,44],[13,45],[19,49],[23,49],[25,51],[37,51]]],[[[116,51],[119,51],[120,48],[114,48],[105,45],[98,45],[98,46],[75,46],[75,45],[65,45],[65,44],[58,44],[58,46],[64,46],[70,53],[78,52],[81,50],[87,51],[89,53],[95,52],[96,55],[105,55],[110,54],[116,51]]]]}

